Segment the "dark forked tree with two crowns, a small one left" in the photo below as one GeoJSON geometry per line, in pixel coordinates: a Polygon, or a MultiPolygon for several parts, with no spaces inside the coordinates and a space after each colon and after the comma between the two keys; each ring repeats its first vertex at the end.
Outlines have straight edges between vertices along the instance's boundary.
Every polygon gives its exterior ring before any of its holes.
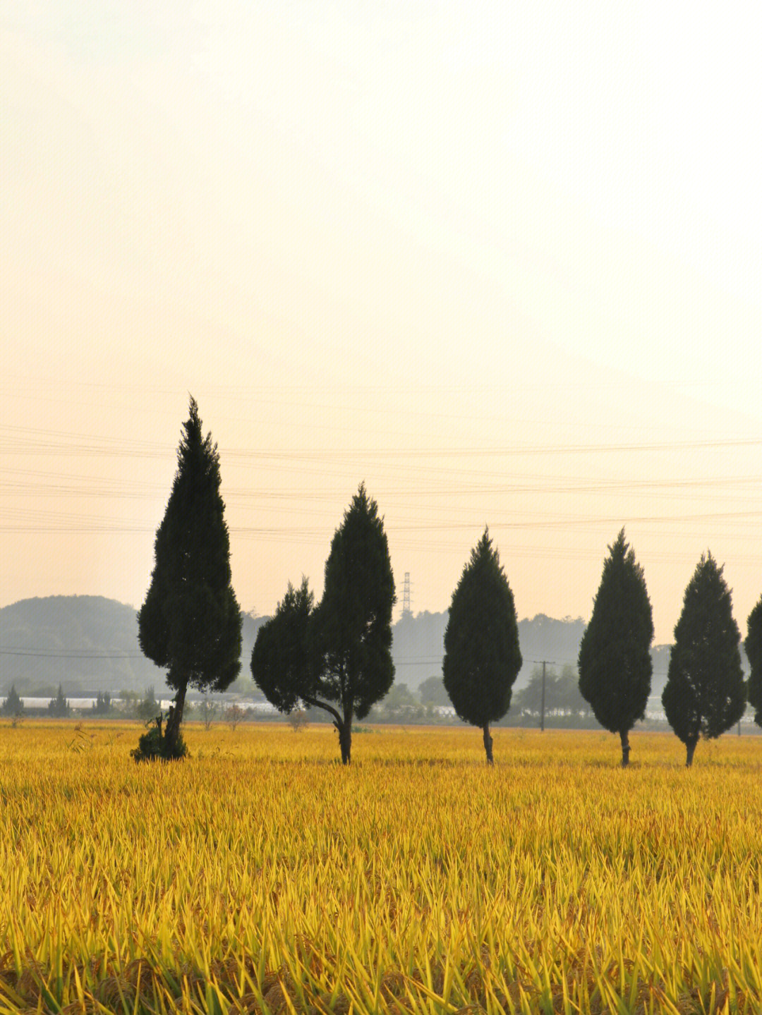
{"type": "Polygon", "coordinates": [[[252,653],[255,683],[276,708],[288,715],[301,700],[333,717],[344,764],[353,719],[364,719],[394,680],[395,602],[384,520],[361,484],[331,542],[320,606],[306,579],[289,585],[252,653]]]}

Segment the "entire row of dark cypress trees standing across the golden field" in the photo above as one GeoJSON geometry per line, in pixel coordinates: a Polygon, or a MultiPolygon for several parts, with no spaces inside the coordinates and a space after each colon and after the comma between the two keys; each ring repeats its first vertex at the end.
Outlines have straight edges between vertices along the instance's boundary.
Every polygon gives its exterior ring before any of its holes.
{"type": "MultiPolygon", "coordinates": [[[[241,615],[230,579],[219,453],[211,433],[204,435],[192,398],[138,614],[141,650],[166,669],[175,698],[167,716],[159,715],[141,737],[136,760],[183,757],[188,688],[222,691],[237,676],[241,615]]],[[[334,533],[320,603],[306,578],[298,587],[289,584],[260,628],[251,660],[255,683],[281,713],[302,705],[328,713],[345,764],[351,760],[353,721],[364,719],[394,681],[396,601],[384,519],[361,483],[334,533]]],[[[623,529],[604,561],[578,658],[579,692],[598,722],[619,735],[623,765],[630,731],[645,716],[652,640],[643,570],[623,529]]],[[[685,591],[662,696],[667,719],[686,745],[688,765],[700,737],[718,737],[740,720],[747,696],[762,725],[762,597],[748,621],[748,687],[740,644],[722,568],[704,554],[685,591]]],[[[442,675],[457,715],[481,730],[490,764],[491,726],[507,713],[521,667],[513,594],[485,528],[453,592],[442,675]]]]}

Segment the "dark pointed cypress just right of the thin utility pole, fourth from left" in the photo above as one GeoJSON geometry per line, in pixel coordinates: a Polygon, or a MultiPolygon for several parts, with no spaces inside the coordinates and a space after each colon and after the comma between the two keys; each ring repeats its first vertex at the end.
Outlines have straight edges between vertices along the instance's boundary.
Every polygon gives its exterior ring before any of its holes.
{"type": "Polygon", "coordinates": [[[609,547],[591,622],[579,646],[579,691],[598,722],[622,743],[629,763],[632,727],[650,693],[653,618],[643,569],[624,538],[609,547]]]}

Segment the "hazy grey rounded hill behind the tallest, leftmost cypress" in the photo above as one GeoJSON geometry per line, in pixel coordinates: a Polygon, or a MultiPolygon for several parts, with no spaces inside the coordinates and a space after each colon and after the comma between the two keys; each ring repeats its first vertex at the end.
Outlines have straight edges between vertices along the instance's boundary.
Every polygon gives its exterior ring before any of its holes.
{"type": "MultiPolygon", "coordinates": [[[[257,630],[266,617],[244,616],[241,673],[251,686],[249,663],[257,630]]],[[[24,599],[0,609],[0,697],[13,684],[19,694],[48,694],[63,684],[66,694],[109,690],[163,692],[164,671],[138,645],[132,606],[102,596],[24,599]]]]}

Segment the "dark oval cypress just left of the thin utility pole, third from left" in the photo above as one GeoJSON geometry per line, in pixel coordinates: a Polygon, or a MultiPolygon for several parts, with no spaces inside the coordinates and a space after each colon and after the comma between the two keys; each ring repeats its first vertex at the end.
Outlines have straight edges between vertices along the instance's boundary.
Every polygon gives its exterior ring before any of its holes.
{"type": "Polygon", "coordinates": [[[485,529],[453,593],[442,672],[459,717],[481,728],[489,764],[493,763],[489,724],[508,710],[521,668],[513,593],[485,529]]]}

